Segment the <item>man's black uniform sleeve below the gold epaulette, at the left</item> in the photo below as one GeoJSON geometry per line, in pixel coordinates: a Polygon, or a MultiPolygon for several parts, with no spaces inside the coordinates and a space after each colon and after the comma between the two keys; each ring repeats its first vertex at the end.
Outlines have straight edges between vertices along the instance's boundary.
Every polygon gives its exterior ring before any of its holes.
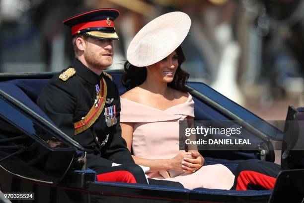
{"type": "MultiPolygon", "coordinates": [[[[68,84],[65,85],[68,86],[68,84]]],[[[52,81],[44,87],[37,99],[37,105],[59,129],[73,138],[73,117],[76,109],[76,98],[65,89],[66,87],[62,87],[62,84],[60,86],[60,84],[52,81]]]]}

